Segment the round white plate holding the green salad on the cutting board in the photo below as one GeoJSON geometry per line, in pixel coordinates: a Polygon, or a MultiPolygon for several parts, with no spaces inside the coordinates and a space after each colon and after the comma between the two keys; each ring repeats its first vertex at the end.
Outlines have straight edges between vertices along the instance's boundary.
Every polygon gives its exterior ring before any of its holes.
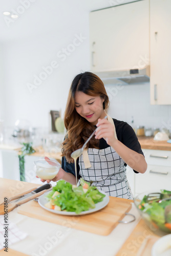
{"type": "Polygon", "coordinates": [[[80,214],[76,214],[74,211],[58,211],[58,210],[53,210],[53,209],[49,209],[47,207],[45,207],[45,204],[48,202],[48,199],[46,198],[46,196],[48,195],[49,191],[46,192],[44,195],[41,195],[38,199],[38,203],[39,205],[48,210],[53,212],[54,214],[60,214],[60,215],[85,215],[85,214],[91,214],[92,212],[101,210],[102,208],[104,208],[108,203],[109,203],[109,196],[106,195],[106,193],[104,193],[103,191],[100,190],[100,193],[105,195],[105,197],[103,198],[102,202],[99,202],[96,204],[96,207],[90,210],[86,210],[86,211],[81,211],[80,214]]]}

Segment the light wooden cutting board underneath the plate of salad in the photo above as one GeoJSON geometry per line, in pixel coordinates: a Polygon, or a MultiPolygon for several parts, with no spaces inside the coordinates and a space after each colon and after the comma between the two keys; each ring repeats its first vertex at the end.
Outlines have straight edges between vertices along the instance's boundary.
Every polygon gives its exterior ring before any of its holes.
{"type": "Polygon", "coordinates": [[[109,204],[97,212],[82,216],[63,216],[53,214],[37,202],[30,201],[20,205],[17,212],[38,220],[107,236],[116,227],[118,221],[123,219],[125,212],[130,211],[131,202],[127,199],[110,197],[109,204]]]}

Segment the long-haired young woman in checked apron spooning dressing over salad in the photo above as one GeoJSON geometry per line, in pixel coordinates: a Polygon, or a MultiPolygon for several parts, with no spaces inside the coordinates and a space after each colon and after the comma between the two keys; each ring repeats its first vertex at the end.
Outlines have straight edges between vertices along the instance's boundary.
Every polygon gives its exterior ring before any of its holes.
{"type": "Polygon", "coordinates": [[[76,184],[71,153],[81,148],[98,127],[77,159],[77,176],[93,181],[93,185],[110,196],[133,199],[126,165],[135,173],[145,173],[147,164],[132,127],[108,115],[104,119],[108,106],[109,98],[98,76],[85,72],[74,78],[64,118],[67,135],[62,144],[62,164],[53,181],[64,179],[76,184]]]}

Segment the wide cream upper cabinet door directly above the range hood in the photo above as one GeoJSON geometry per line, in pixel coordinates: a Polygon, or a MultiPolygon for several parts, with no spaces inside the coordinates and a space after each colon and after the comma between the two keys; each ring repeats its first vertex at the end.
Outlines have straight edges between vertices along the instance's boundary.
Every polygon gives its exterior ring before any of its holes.
{"type": "Polygon", "coordinates": [[[90,13],[91,70],[144,68],[149,61],[149,1],[90,13]]]}

